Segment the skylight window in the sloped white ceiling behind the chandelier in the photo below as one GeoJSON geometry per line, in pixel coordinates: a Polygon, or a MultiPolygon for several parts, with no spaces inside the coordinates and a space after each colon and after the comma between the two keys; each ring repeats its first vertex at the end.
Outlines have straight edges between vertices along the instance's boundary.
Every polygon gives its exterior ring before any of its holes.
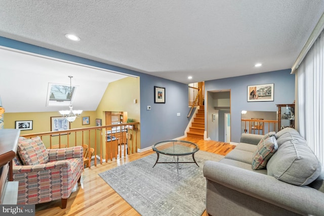
{"type": "Polygon", "coordinates": [[[49,83],[47,106],[69,106],[73,101],[76,87],[65,84],[49,83]]]}

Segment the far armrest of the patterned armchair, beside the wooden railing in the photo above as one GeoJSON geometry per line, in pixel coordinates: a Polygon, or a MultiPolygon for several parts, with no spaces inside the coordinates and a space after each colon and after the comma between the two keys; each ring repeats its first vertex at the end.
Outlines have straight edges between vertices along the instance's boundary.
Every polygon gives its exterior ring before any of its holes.
{"type": "Polygon", "coordinates": [[[74,146],[63,149],[46,149],[50,161],[66,160],[71,158],[83,158],[83,147],[74,146]]]}

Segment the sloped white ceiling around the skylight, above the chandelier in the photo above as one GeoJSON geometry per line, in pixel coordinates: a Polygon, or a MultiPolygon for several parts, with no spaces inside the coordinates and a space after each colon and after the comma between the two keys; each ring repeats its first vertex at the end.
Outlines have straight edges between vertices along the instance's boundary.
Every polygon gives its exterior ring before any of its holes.
{"type": "Polygon", "coordinates": [[[74,109],[96,110],[109,82],[121,73],[0,48],[0,96],[6,112],[50,112],[68,106],[47,106],[48,84],[77,87],[74,109]]]}

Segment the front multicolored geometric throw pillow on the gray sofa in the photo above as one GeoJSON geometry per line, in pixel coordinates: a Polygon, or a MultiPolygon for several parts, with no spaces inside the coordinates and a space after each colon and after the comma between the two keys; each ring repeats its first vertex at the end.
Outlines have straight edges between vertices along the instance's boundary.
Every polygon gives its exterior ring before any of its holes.
{"type": "Polygon", "coordinates": [[[253,153],[252,168],[263,169],[266,167],[268,160],[278,149],[278,144],[274,136],[266,135],[266,139],[260,140],[257,149],[253,153]]]}

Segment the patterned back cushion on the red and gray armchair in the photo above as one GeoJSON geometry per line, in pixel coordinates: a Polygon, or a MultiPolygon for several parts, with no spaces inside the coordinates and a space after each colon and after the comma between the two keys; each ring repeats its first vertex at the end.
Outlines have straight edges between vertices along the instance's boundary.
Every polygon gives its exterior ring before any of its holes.
{"type": "Polygon", "coordinates": [[[49,155],[41,138],[19,138],[18,155],[24,165],[44,164],[49,161],[49,155]]]}

